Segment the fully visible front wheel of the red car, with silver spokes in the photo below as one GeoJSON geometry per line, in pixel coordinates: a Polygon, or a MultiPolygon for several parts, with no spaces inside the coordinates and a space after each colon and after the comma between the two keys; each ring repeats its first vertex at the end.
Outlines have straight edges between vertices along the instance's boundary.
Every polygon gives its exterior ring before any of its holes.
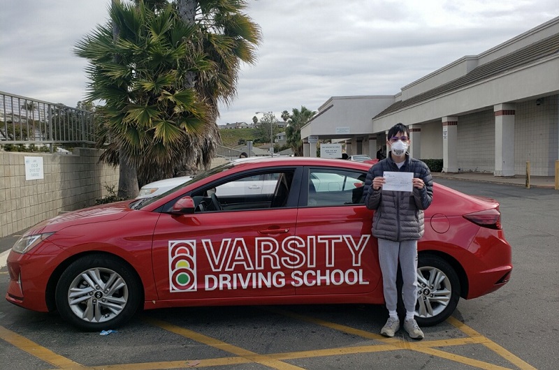
{"type": "Polygon", "coordinates": [[[93,332],[118,327],[140,306],[141,284],[133,269],[113,256],[87,255],[62,272],[55,299],[64,320],[93,332]]]}

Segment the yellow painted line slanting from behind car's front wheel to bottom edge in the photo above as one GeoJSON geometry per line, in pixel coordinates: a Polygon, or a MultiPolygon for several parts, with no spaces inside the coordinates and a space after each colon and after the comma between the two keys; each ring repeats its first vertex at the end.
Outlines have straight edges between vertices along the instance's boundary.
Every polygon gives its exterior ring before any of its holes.
{"type": "Polygon", "coordinates": [[[262,364],[267,367],[271,367],[273,369],[302,369],[300,367],[296,367],[291,364],[286,364],[284,362],[279,362],[274,360],[273,358],[267,355],[259,355],[258,353],[254,353],[250,350],[245,350],[245,348],[240,348],[238,346],[233,346],[232,344],[226,343],[224,341],[220,341],[219,339],[212,338],[211,336],[206,336],[204,334],[200,334],[198,332],[194,332],[192,330],[185,329],[184,327],[180,327],[177,325],[173,325],[170,323],[166,323],[162,320],[156,320],[154,318],[144,318],[147,323],[155,325],[157,327],[161,327],[168,332],[173,332],[180,336],[184,336],[186,338],[192,339],[194,341],[198,341],[199,343],[204,343],[208,346],[212,346],[219,350],[224,350],[228,353],[233,353],[233,355],[238,355],[240,357],[244,357],[245,359],[249,360],[250,362],[256,362],[257,364],[262,364]]]}

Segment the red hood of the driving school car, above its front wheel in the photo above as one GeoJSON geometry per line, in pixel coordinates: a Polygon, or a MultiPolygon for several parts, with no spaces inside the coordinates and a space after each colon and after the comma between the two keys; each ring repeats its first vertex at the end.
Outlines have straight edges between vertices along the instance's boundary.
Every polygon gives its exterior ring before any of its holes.
{"type": "Polygon", "coordinates": [[[98,205],[60,214],[59,216],[35,225],[34,228],[32,228],[32,233],[57,232],[68,226],[116,221],[122,219],[122,217],[131,212],[129,204],[130,200],[125,200],[124,202],[108,203],[106,205],[98,205]]]}

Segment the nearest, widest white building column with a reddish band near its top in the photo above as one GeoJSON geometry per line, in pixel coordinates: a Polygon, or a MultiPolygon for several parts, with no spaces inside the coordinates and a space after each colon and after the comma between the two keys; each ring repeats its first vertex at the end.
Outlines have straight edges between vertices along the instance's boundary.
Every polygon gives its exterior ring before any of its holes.
{"type": "Polygon", "coordinates": [[[514,176],[514,104],[497,104],[495,112],[495,176],[514,176]]]}

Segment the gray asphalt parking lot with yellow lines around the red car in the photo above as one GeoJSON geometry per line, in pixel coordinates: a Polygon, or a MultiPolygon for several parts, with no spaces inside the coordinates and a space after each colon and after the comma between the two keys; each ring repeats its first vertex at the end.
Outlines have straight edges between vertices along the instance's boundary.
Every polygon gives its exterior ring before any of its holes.
{"type": "MultiPolygon", "coordinates": [[[[0,299],[0,369],[558,369],[559,191],[437,182],[500,201],[514,270],[504,288],[423,328],[423,341],[379,335],[382,306],[161,309],[100,335],[0,299]]],[[[7,284],[3,267],[2,295],[7,284]]]]}

